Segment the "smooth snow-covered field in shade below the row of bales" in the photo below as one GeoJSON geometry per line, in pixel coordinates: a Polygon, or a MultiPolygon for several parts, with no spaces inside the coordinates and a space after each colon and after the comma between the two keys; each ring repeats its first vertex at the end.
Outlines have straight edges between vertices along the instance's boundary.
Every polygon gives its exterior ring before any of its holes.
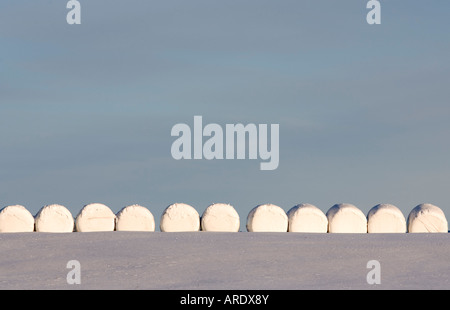
{"type": "Polygon", "coordinates": [[[0,289],[450,289],[449,234],[4,233],[0,253],[0,289]]]}

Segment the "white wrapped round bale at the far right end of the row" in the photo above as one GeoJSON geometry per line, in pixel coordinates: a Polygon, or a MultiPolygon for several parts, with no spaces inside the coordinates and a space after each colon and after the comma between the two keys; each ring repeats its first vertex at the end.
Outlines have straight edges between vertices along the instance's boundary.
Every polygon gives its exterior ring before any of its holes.
{"type": "Polygon", "coordinates": [[[444,212],[437,206],[424,203],[411,210],[408,216],[410,233],[446,233],[448,222],[444,212]]]}

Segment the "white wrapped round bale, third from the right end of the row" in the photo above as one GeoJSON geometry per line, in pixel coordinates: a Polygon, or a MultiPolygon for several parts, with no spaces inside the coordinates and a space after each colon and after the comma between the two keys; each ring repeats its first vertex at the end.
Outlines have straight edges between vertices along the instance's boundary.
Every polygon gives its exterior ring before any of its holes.
{"type": "Polygon", "coordinates": [[[352,204],[335,204],[326,215],[329,233],[367,233],[366,216],[352,204]]]}

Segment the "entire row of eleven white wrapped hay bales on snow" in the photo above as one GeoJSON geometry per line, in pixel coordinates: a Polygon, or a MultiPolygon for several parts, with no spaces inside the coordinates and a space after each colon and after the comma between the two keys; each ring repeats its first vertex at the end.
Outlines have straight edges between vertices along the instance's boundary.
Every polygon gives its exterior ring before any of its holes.
{"type": "MultiPolygon", "coordinates": [[[[239,214],[229,204],[210,205],[200,217],[192,206],[175,203],[168,206],[160,220],[162,232],[228,231],[240,228],[239,214]]],[[[21,205],[0,211],[0,232],[93,232],[155,231],[153,214],[140,205],[130,205],[114,214],[101,203],[84,206],[74,219],[62,205],[47,205],[33,216],[21,205]]],[[[299,204],[287,213],[279,206],[262,204],[247,216],[249,232],[307,233],[416,233],[447,232],[444,212],[432,204],[420,204],[411,210],[406,221],[400,209],[379,204],[366,215],[352,204],[335,204],[325,214],[311,204],[299,204]]]]}

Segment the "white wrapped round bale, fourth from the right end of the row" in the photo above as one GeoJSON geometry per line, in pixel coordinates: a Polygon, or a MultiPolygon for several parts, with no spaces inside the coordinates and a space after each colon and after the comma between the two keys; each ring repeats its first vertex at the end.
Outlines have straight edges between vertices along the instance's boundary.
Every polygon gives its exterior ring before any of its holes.
{"type": "Polygon", "coordinates": [[[328,219],[316,206],[302,203],[292,207],[288,212],[288,231],[307,233],[326,233],[328,219]]]}

